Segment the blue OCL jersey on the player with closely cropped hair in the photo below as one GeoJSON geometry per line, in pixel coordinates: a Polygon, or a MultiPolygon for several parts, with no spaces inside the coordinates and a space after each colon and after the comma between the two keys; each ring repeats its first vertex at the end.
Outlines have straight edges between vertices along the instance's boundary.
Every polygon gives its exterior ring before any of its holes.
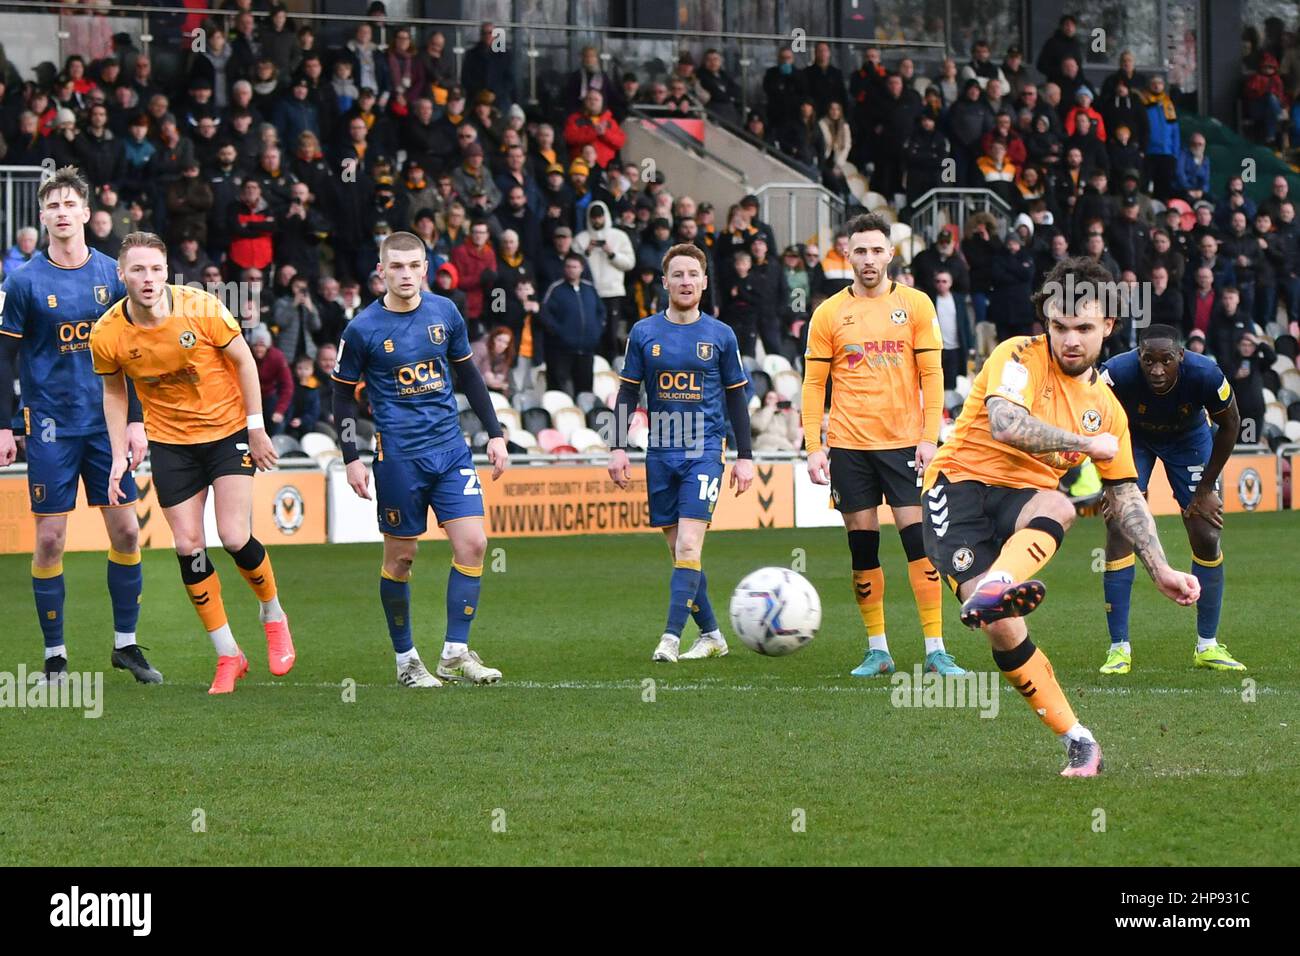
{"type": "Polygon", "coordinates": [[[451,363],[467,362],[469,334],[451,299],[421,293],[410,312],[376,299],[343,329],[334,378],[365,382],[385,455],[464,442],[451,363]]]}

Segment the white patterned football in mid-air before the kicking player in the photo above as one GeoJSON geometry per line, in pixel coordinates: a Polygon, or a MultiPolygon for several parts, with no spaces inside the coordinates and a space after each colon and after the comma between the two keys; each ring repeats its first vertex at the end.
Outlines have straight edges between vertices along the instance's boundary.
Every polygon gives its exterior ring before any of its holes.
{"type": "Polygon", "coordinates": [[[732,630],[748,648],[784,657],[816,636],[822,598],[803,575],[785,567],[763,567],[736,585],[731,618],[732,630]]]}

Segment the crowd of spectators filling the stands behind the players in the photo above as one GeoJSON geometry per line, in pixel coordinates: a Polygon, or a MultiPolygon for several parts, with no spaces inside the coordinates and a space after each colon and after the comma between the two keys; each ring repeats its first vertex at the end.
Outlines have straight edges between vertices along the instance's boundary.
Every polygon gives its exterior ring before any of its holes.
{"type": "MultiPolygon", "coordinates": [[[[1205,139],[1182,140],[1164,78],[1124,52],[1093,90],[1069,16],[1032,66],[978,40],[967,62],[944,60],[932,77],[906,56],[887,65],[878,48],[844,75],[828,44],[806,65],[786,47],[763,77],[764,105],[742,114],[712,48],[642,82],[611,75],[588,47],[562,91],[525,108],[493,23],[458,70],[436,29],[387,23],[378,46],[381,4],[329,46],[285,8],[255,18],[252,4],[191,17],[185,35],[203,42],[165,77],[121,34],[87,33],[84,56],[36,72],[48,82],[18,75],[0,47],[0,161],[79,166],[94,189],[92,247],[116,255],[125,234],[150,229],[169,243],[174,281],[239,284],[269,421],[289,434],[332,421],[321,384],[347,321],[382,294],[378,243],[395,230],[424,239],[430,291],[462,311],[506,398],[532,389],[542,364],[546,388],[590,392],[599,359],[616,363],[630,325],[663,308],[660,260],[675,242],[707,255],[703,307],[741,351],[797,367],[812,310],[852,281],[846,237],[824,251],[781,247],[754,196],[715,209],[662,173],[644,178],[624,148],[633,107],[744,122],[850,204],[862,176],[897,206],[949,182],[1006,200],[1014,222],[975,216],[963,235],[945,232],[910,268],[894,265],[936,298],[949,388],[972,355],[1034,328],[1028,293],[1070,254],[1152,282],[1156,320],[1221,360],[1278,303],[1297,330],[1286,179],[1258,208],[1239,179],[1214,195],[1205,139]]],[[[4,269],[36,245],[34,229],[20,232],[4,269]]],[[[1127,347],[1131,334],[1115,341],[1127,347]]],[[[788,408],[758,398],[781,432],[788,408]]]]}

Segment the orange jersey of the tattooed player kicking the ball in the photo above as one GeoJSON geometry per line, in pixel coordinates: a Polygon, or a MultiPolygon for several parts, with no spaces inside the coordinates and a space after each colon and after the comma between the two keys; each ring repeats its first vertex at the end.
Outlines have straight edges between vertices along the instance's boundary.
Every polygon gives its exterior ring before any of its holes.
{"type": "Polygon", "coordinates": [[[949,481],[982,481],[998,488],[1057,486],[1061,476],[1084,460],[1078,451],[1028,451],[996,441],[989,431],[991,398],[1005,398],[1030,415],[1075,434],[1109,432],[1119,440],[1119,453],[1109,462],[1096,462],[1102,479],[1136,479],[1128,416],[1096,369],[1078,378],[1061,371],[1048,347],[1046,336],[1009,338],[988,356],[975,376],[952,437],[944,442],[926,470],[930,488],[940,471],[949,481]]]}

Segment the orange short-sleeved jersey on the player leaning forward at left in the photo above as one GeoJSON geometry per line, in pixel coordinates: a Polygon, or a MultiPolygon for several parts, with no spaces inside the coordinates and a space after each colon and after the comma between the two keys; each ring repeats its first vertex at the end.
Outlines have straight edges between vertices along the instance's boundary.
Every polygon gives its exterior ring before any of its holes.
{"type": "Polygon", "coordinates": [[[127,299],[109,308],[90,333],[95,371],[125,372],[144,408],[150,441],[199,445],[234,434],[247,412],[234,365],[222,351],[239,323],[202,289],[169,285],[172,313],[152,329],[126,315],[127,299]]]}

